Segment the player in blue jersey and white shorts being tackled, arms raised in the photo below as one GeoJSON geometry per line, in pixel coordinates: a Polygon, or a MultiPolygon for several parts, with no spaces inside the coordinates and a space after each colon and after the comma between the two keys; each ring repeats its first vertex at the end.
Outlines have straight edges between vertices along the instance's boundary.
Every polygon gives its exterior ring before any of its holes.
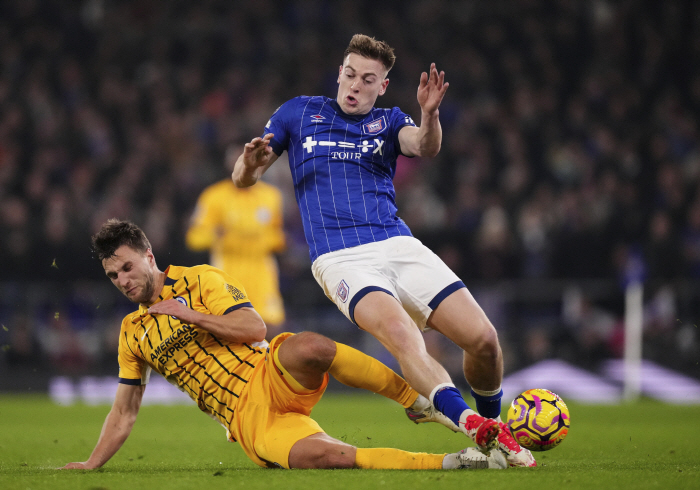
{"type": "Polygon", "coordinates": [[[461,430],[484,450],[503,451],[511,466],[535,466],[499,418],[503,358],[495,328],[464,283],[396,214],[396,159],[440,151],[439,107],[449,84],[434,63],[421,74],[420,126],[397,107],[377,109],[395,59],[386,43],[353,36],[336,99],[302,96],[282,104],[263,136],[245,145],[233,181],[255,184],[287,150],[314,277],[346,317],[389,350],[423,395],[407,409],[409,418],[461,430]],[[427,353],[426,327],[464,350],[478,414],[427,353]]]}

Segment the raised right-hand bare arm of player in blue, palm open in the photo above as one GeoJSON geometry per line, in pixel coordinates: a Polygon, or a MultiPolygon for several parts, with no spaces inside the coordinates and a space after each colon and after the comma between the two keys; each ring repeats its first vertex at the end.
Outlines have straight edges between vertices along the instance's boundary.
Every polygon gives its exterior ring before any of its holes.
{"type": "Polygon", "coordinates": [[[399,131],[401,152],[407,156],[434,157],[442,144],[440,104],[450,84],[445,82],[445,72],[438,73],[435,63],[430,74],[421,73],[418,85],[418,104],[421,108],[420,127],[404,126],[399,131]]]}

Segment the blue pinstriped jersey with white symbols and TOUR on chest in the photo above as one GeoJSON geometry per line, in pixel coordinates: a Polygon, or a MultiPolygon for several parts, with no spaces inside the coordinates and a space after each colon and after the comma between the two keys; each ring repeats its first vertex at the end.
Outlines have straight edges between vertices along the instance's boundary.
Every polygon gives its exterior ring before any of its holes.
{"type": "Polygon", "coordinates": [[[319,255],[411,236],[396,215],[393,177],[399,130],[415,126],[399,108],[348,115],[328,97],[296,97],[270,118],[277,155],[287,150],[311,261],[319,255]]]}

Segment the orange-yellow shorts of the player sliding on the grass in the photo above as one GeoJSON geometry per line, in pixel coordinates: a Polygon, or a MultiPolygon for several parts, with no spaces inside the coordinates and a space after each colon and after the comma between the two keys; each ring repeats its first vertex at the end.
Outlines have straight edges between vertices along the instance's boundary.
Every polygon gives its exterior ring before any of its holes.
{"type": "Polygon", "coordinates": [[[299,440],[323,432],[309,417],[328,385],[328,373],[316,390],[301,386],[282,367],[277,350],[293,333],[272,339],[265,362],[253,370],[240,395],[231,435],[256,464],[289,468],[289,452],[299,440]]]}

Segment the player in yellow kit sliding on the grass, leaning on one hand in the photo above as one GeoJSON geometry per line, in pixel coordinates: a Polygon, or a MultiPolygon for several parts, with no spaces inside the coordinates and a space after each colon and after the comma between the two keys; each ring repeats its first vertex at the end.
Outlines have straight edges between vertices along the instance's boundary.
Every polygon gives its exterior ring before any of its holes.
{"type": "Polygon", "coordinates": [[[506,468],[500,451],[453,454],[356,448],[309,417],[328,375],[416,408],[429,405],[382,363],[313,333],[283,333],[268,345],[265,323],[243,285],[208,265],[160,271],[143,231],[106,222],[93,250],[112,283],[139,309],[122,321],[119,380],[112,410],[89,459],[64,469],[104,465],[129,436],[150,372],[177,385],[218,420],[256,464],[283,468],[506,468]]]}

